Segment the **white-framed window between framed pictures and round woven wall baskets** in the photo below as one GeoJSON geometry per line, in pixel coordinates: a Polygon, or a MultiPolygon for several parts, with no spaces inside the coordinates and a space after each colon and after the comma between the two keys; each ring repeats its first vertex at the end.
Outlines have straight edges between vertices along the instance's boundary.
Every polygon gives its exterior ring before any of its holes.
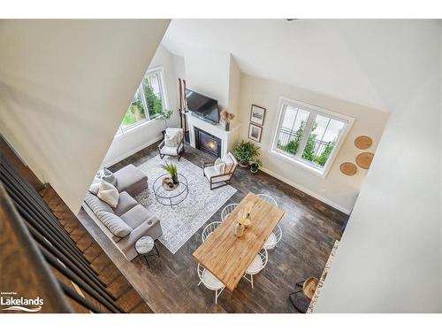
{"type": "Polygon", "coordinates": [[[353,119],[281,98],[271,152],[325,176],[353,119]]]}

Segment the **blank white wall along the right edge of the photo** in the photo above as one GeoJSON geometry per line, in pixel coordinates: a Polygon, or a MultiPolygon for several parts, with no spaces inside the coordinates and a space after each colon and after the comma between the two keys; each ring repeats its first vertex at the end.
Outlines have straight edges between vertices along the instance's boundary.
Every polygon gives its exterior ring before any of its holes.
{"type": "MultiPolygon", "coordinates": [[[[390,98],[392,116],[316,313],[442,312],[439,24],[418,23],[406,36],[415,53],[400,69],[410,80],[396,81],[397,61],[374,66],[372,53],[362,61],[390,98]],[[391,89],[402,91],[401,98],[392,98],[391,89]]],[[[374,59],[383,62],[381,52],[374,59]]]]}

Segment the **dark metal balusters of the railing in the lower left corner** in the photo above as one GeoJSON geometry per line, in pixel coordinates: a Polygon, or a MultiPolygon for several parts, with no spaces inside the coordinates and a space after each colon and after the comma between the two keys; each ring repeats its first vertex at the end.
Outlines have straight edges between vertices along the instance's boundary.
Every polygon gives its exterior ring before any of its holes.
{"type": "MultiPolygon", "coordinates": [[[[10,199],[18,215],[18,218],[2,220],[2,223],[22,223],[27,228],[27,242],[33,243],[29,249],[37,251],[36,254],[43,258],[37,261],[44,265],[41,278],[50,280],[50,283],[56,280],[51,294],[68,297],[93,313],[124,313],[49,206],[3,156],[0,158],[0,180],[5,189],[2,199],[10,199]],[[57,278],[51,269],[63,277],[57,278]],[[67,284],[66,280],[69,281],[67,284]],[[81,291],[76,291],[72,285],[81,291]]],[[[72,312],[65,303],[59,310],[72,312]]]]}

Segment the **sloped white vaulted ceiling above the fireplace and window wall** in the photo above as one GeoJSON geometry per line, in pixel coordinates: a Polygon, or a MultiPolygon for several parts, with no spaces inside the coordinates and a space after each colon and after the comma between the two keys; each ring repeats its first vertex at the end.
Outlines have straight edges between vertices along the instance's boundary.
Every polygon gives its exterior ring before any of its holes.
{"type": "Polygon", "coordinates": [[[390,112],[439,64],[439,38],[437,20],[173,19],[163,44],[231,53],[242,73],[390,112]]]}

